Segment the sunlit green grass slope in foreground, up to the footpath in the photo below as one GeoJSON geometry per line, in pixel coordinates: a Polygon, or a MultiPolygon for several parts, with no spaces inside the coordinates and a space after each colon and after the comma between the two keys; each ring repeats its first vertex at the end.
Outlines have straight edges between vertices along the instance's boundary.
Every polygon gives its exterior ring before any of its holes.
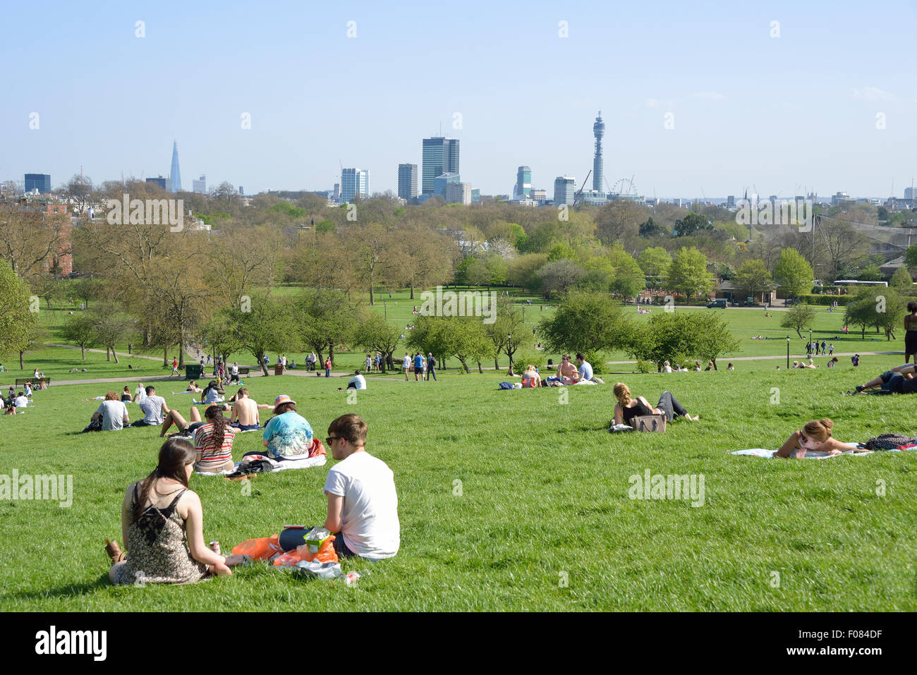
{"type": "MultiPolygon", "coordinates": [[[[779,347],[785,353],[785,339],[779,347]]],[[[72,506],[0,501],[0,610],[914,611],[917,452],[729,454],[775,448],[822,416],[841,440],[917,436],[910,398],[839,395],[900,362],[776,372],[773,361],[745,361],[735,372],[621,376],[651,403],[669,389],[701,415],[665,435],[607,433],[616,377],[535,392],[497,391],[505,376],[495,372],[450,371],[423,384],[375,378],[356,404],[337,391],[339,379],[253,378],[258,401],[291,394],[321,437],[337,415],[361,415],[367,448],[394,471],[401,550],[374,565],[345,562],[370,570],[354,587],[263,563],[187,587],[110,586],[103,539],[120,538],[124,491],[154,468],[158,431],[80,435],[98,405],[81,399],[109,386],[51,386],[25,415],[0,417],[0,474],[72,474],[72,506]],[[703,505],[630,499],[629,478],[646,470],[703,475],[703,505]]],[[[168,391],[160,386],[187,414],[191,397],[168,391]]],[[[128,410],[137,419],[138,407],[128,410]]],[[[260,435],[241,435],[234,456],[256,448],[260,435]]],[[[321,524],[332,464],[262,475],[249,495],[241,483],[193,476],[204,539],[226,551],[284,524],[321,524]]]]}

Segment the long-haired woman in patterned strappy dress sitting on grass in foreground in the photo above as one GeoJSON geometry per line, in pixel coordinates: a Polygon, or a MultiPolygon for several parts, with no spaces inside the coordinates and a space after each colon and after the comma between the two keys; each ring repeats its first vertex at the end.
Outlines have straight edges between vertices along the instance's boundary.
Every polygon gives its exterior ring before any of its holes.
{"type": "Polygon", "coordinates": [[[192,583],[209,574],[232,574],[229,568],[243,561],[217,555],[204,544],[201,499],[188,489],[193,464],[191,443],[170,438],[160,448],[156,469],[127,488],[121,537],[130,555],[105,539],[112,583],[192,583]]]}

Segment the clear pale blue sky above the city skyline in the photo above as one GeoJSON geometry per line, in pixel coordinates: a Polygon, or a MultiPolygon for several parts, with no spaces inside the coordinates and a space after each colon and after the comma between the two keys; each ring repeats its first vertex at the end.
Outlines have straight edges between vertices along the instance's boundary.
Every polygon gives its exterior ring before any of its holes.
{"type": "Polygon", "coordinates": [[[203,5],[7,6],[0,179],[168,175],[174,138],[185,189],[330,189],[341,161],[395,191],[442,125],[482,194],[526,164],[551,195],[586,178],[599,109],[605,178],[648,196],[900,196],[917,177],[917,0],[203,5]]]}

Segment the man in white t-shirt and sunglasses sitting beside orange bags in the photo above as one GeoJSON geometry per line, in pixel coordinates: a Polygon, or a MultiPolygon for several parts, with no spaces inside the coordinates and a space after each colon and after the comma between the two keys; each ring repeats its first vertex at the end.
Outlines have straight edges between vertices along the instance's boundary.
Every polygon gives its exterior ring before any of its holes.
{"type": "Polygon", "coordinates": [[[366,451],[366,423],[341,415],[328,426],[327,448],[337,464],[328,471],[326,529],[342,557],[392,558],[401,545],[394,474],[366,451]]]}

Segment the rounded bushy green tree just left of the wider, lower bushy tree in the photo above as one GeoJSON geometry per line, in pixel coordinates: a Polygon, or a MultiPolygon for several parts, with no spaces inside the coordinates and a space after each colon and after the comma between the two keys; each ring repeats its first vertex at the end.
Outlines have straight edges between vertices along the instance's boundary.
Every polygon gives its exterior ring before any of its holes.
{"type": "Polygon", "coordinates": [[[619,349],[633,326],[621,304],[605,293],[571,291],[554,315],[538,324],[538,333],[551,352],[598,352],[619,349]]]}

